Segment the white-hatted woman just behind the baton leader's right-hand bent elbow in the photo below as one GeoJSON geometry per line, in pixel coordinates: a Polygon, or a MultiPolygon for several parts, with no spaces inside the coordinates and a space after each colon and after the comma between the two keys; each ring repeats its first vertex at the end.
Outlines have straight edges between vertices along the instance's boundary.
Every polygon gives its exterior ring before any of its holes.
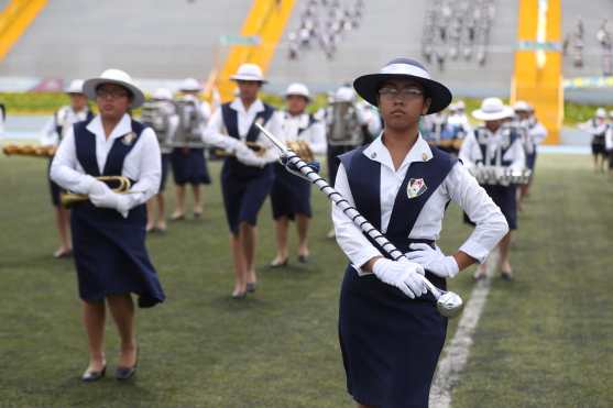
{"type": "MultiPolygon", "coordinates": [[[[474,110],[472,115],[484,123],[467,136],[460,148],[459,157],[466,166],[492,166],[514,170],[525,168],[526,155],[521,131],[515,126],[505,124],[513,118],[513,109],[505,106],[499,98],[485,98],[482,101],[481,108],[474,110]]],[[[511,230],[499,244],[501,275],[504,279],[511,280],[513,269],[511,267],[510,250],[512,231],[517,229],[517,186],[494,183],[485,184],[483,188],[502,210],[511,230]]],[[[468,216],[469,220],[474,222],[470,214],[468,216]]],[[[474,278],[484,278],[486,271],[488,266],[484,262],[477,269],[474,278]]]]}

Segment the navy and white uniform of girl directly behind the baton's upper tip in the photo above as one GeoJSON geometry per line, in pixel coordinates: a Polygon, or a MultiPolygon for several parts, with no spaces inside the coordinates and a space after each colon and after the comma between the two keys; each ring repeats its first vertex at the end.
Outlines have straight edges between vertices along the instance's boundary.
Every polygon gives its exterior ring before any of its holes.
{"type": "MultiPolygon", "coordinates": [[[[311,114],[292,115],[289,112],[277,112],[282,122],[281,134],[286,142],[305,141],[314,155],[326,153],[326,126],[311,114]]],[[[271,190],[273,219],[287,217],[294,219],[299,213],[311,217],[310,183],[304,180],[280,164],[274,164],[275,180],[271,190]]]]}

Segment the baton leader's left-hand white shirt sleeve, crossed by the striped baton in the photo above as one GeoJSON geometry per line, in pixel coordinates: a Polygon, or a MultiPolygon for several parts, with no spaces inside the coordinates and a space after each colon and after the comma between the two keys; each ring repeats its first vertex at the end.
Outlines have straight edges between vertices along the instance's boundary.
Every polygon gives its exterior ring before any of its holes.
{"type": "MultiPolygon", "coordinates": [[[[349,187],[347,172],[342,164],[337,173],[335,189],[344,197],[349,205],[355,206],[349,187]]],[[[353,221],[336,205],[332,205],[332,222],[340,249],[355,267],[360,268],[371,258],[382,256],[381,252],[364,236],[353,221]]]]}

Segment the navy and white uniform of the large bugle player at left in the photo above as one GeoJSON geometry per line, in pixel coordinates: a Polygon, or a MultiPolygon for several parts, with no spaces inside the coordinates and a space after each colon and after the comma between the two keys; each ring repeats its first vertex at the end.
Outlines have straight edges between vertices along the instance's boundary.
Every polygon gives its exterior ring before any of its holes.
{"type": "Polygon", "coordinates": [[[129,211],[75,205],[70,217],[79,296],[101,301],[108,295],[133,293],[140,307],[164,301],[164,291],[144,245],[144,203],[160,186],[161,161],[155,133],[124,114],[107,139],[99,115],[72,126],[51,167],[63,188],[87,192],[88,179],[124,176],[134,181],[127,195],[129,211]]]}

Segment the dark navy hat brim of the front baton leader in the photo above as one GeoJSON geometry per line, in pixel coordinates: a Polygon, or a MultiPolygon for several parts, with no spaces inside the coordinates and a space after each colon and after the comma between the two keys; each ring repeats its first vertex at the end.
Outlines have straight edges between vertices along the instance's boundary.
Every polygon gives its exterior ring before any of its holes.
{"type": "Polygon", "coordinates": [[[428,113],[440,112],[451,103],[451,91],[445,85],[433,79],[427,79],[414,75],[405,74],[369,74],[358,77],[353,81],[353,88],[359,96],[366,102],[377,106],[377,92],[381,84],[391,79],[412,79],[420,84],[426,90],[426,96],[430,98],[428,113]]]}

